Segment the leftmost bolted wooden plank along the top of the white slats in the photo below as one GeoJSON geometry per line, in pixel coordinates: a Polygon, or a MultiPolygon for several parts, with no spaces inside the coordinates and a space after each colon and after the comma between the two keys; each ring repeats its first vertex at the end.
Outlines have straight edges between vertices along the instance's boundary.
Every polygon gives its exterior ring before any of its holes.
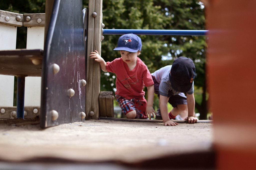
{"type": "Polygon", "coordinates": [[[21,27],[23,25],[22,21],[23,21],[23,14],[0,10],[0,23],[21,27]],[[20,16],[21,20],[16,21],[16,16],[20,16]]]}

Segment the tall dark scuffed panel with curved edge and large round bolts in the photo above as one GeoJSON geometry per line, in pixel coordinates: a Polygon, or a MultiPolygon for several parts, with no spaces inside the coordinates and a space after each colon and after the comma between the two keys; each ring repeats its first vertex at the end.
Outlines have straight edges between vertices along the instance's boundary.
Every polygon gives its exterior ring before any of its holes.
{"type": "Polygon", "coordinates": [[[86,80],[83,33],[82,0],[55,0],[42,67],[42,128],[82,121],[86,89],[82,86],[86,80]]]}

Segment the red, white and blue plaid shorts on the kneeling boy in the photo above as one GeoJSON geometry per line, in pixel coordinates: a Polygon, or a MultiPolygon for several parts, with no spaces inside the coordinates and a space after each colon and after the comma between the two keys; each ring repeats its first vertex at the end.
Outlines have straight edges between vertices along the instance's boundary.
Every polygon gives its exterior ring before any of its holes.
{"type": "Polygon", "coordinates": [[[127,113],[136,110],[136,119],[147,119],[145,115],[147,100],[144,97],[126,99],[121,96],[115,95],[116,101],[118,102],[122,112],[126,115],[127,113]]]}

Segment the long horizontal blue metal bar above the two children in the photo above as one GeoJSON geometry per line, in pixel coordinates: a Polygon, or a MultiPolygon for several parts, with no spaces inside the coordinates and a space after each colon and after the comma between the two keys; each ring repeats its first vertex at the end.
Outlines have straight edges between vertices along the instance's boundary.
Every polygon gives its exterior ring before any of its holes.
{"type": "Polygon", "coordinates": [[[103,29],[105,35],[206,35],[208,30],[124,30],[124,29],[103,29]]]}

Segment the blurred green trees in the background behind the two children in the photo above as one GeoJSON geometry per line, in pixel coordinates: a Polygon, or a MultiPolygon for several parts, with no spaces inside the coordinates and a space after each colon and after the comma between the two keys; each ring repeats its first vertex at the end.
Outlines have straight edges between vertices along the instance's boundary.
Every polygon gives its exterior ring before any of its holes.
{"type": "MultiPolygon", "coordinates": [[[[45,13],[45,0],[1,0],[1,10],[20,14],[45,13]]],[[[88,1],[83,0],[83,8],[88,1]]],[[[205,30],[205,8],[196,0],[103,0],[104,29],[205,30]]],[[[26,28],[18,28],[17,48],[26,48],[26,28]]],[[[105,61],[120,57],[113,51],[120,35],[104,35],[101,54],[105,61]]],[[[139,35],[140,58],[151,73],[171,65],[177,57],[191,58],[196,66],[195,112],[207,119],[206,36],[139,35]]],[[[115,92],[115,74],[101,72],[101,91],[115,92]]],[[[16,89],[15,89],[16,90],[16,89]]],[[[146,88],[145,88],[146,90],[146,88]]],[[[147,95],[147,94],[146,94],[147,95]]],[[[158,99],[155,96],[155,110],[158,99]]]]}

